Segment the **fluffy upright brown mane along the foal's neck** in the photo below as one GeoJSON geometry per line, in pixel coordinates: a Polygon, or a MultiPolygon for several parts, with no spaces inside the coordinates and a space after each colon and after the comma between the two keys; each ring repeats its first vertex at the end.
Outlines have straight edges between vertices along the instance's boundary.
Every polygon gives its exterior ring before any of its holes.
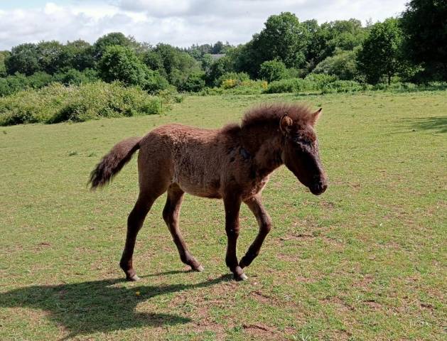
{"type": "Polygon", "coordinates": [[[242,118],[241,128],[257,124],[277,124],[279,119],[287,114],[298,124],[307,124],[313,112],[306,104],[297,103],[266,103],[249,109],[242,118]]]}

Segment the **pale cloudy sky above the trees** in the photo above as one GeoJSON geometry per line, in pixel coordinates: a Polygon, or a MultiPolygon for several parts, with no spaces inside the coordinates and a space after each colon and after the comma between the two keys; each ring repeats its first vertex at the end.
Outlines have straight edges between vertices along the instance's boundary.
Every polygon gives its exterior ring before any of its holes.
{"type": "Polygon", "coordinates": [[[246,43],[281,11],[319,23],[398,16],[408,0],[0,0],[0,50],[41,40],[94,43],[109,32],[180,47],[246,43]]]}

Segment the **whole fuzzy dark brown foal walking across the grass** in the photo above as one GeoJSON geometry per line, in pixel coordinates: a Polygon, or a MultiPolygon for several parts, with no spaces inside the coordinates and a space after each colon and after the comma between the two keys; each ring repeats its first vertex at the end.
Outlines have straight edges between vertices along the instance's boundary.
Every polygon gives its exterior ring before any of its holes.
{"type": "Polygon", "coordinates": [[[299,104],[265,104],[249,110],[240,125],[222,129],[198,129],[167,124],[142,138],[115,145],[92,171],[92,188],[105,185],[139,149],[139,196],[127,221],[126,244],[120,266],[130,281],[138,280],[132,256],[136,235],[154,201],[168,192],[163,219],[180,254],[193,270],[203,266],[190,254],[178,227],[183,194],[223,199],[227,255],[225,261],[236,280],[247,278],[244,267],[259,254],[271,229],[271,220],[262,205],[262,188],[269,174],[284,164],[298,180],[320,195],[327,188],[318,153],[314,126],[316,112],[299,104]],[[239,209],[247,204],[257,218],[259,233],[241,261],[237,261],[239,209]]]}

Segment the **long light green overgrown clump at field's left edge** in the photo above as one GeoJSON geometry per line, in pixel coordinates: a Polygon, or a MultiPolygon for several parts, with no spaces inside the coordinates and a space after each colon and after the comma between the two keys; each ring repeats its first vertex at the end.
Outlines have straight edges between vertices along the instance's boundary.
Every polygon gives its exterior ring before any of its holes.
{"type": "Polygon", "coordinates": [[[65,87],[53,83],[40,90],[24,90],[0,98],[0,125],[53,124],[102,117],[161,114],[163,101],[139,87],[117,82],[94,82],[65,87]]]}

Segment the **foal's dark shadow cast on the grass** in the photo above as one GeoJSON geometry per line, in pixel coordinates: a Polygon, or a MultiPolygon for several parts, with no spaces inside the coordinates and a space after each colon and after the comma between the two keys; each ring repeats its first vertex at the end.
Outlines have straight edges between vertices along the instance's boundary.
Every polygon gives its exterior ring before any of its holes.
{"type": "Polygon", "coordinates": [[[107,332],[143,326],[176,325],[190,322],[181,315],[136,313],[136,305],[154,296],[187,289],[205,288],[221,281],[167,286],[119,286],[122,279],[106,279],[58,286],[28,286],[0,294],[0,307],[38,308],[49,313],[48,318],[66,328],[73,337],[92,332],[107,332]],[[139,295],[136,292],[139,291],[139,295]]]}

